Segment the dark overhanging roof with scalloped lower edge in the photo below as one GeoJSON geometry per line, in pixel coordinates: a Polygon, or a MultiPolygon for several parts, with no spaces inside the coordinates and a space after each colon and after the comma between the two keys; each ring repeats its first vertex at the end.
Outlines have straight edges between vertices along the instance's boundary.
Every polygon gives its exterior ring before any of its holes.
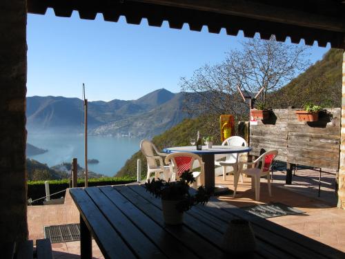
{"type": "Polygon", "coordinates": [[[127,23],[140,24],[148,19],[150,26],[168,21],[170,28],[228,35],[244,31],[245,37],[259,32],[262,39],[275,35],[278,41],[290,37],[293,43],[304,39],[307,45],[329,42],[333,48],[345,48],[345,1],[342,0],[28,0],[28,12],[44,15],[53,8],[58,17],[70,17],[78,11],[81,19],[95,19],[102,13],[106,21],[126,17],[127,23]]]}

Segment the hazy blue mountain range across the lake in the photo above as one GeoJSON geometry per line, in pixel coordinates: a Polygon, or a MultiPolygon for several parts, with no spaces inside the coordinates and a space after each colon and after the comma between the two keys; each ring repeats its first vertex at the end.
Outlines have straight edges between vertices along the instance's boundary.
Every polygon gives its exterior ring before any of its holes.
{"type": "MultiPolygon", "coordinates": [[[[182,111],[183,93],[162,88],[136,100],[88,102],[88,128],[92,135],[150,137],[188,117],[182,111]]],[[[67,97],[27,97],[28,130],[83,131],[83,101],[67,97]]]]}

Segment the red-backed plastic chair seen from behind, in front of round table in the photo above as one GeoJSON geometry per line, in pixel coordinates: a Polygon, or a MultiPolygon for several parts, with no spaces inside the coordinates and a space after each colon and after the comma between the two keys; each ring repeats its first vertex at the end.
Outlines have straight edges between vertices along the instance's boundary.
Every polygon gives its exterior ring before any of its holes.
{"type": "Polygon", "coordinates": [[[165,162],[170,166],[171,181],[179,180],[179,177],[182,173],[184,173],[184,171],[192,171],[193,168],[200,166],[200,172],[193,172],[193,177],[195,178],[195,182],[193,182],[193,188],[197,189],[198,180],[200,182],[200,185],[204,184],[205,163],[202,162],[199,155],[188,152],[170,153],[166,156],[165,162]]]}

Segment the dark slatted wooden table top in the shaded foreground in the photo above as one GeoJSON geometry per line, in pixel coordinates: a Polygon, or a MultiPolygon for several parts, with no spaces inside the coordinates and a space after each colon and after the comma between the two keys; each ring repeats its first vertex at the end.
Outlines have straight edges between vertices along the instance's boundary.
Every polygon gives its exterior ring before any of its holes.
{"type": "Polygon", "coordinates": [[[168,226],[161,200],[138,184],[74,188],[70,194],[105,258],[236,258],[221,250],[228,222],[235,218],[252,224],[257,251],[250,258],[345,258],[339,250],[216,198],[184,213],[183,225],[168,226]]]}

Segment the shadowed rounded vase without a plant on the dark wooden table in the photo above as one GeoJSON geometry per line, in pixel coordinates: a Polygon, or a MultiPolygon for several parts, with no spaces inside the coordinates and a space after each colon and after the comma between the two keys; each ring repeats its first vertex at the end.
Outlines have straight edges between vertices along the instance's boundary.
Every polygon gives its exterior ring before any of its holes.
{"type": "Polygon", "coordinates": [[[223,249],[230,254],[253,253],[256,241],[250,222],[247,220],[231,220],[224,233],[223,249]]]}

